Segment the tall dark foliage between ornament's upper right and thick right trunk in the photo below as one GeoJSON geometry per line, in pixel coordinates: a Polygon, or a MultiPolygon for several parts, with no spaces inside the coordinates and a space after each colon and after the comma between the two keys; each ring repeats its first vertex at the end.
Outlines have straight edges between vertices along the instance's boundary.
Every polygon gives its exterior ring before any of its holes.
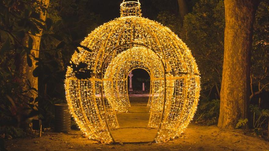
{"type": "Polygon", "coordinates": [[[224,27],[223,0],[199,0],[184,17],[179,37],[192,50],[204,91],[221,83],[224,27]]]}

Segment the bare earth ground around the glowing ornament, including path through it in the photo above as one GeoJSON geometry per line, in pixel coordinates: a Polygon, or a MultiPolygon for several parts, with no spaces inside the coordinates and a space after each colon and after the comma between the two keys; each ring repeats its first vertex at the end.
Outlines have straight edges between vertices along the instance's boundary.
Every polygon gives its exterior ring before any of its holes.
{"type": "Polygon", "coordinates": [[[35,135],[5,140],[6,149],[10,151],[269,151],[269,142],[249,135],[243,130],[224,130],[216,126],[194,123],[191,123],[180,137],[167,143],[151,142],[157,130],[146,128],[149,119],[147,99],[130,98],[130,102],[132,106],[129,109],[130,113],[117,113],[120,128],[111,132],[118,143],[102,144],[85,138],[79,130],[71,130],[68,133],[46,131],[42,137],[35,135]]]}

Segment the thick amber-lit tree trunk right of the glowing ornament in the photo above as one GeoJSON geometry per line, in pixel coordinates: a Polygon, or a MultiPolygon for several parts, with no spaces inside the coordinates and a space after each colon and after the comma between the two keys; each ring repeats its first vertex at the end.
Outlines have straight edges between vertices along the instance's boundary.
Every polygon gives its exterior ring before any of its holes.
{"type": "Polygon", "coordinates": [[[258,0],[224,0],[224,62],[218,126],[234,129],[248,117],[252,28],[258,0]]]}

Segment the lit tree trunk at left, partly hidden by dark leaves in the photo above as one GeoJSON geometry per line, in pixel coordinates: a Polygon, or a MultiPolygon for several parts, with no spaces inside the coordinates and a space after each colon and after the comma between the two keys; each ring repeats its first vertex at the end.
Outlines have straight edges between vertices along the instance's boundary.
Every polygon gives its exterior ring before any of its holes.
{"type": "MultiPolygon", "coordinates": [[[[45,5],[49,5],[49,0],[40,0],[42,1],[45,5]]],[[[41,20],[46,20],[46,12],[43,13],[41,12],[40,13],[40,19],[41,20]]],[[[31,34],[28,34],[25,36],[25,38],[23,39],[23,44],[24,46],[28,47],[28,40],[29,40],[29,37],[31,37],[33,39],[33,49],[35,50],[31,50],[31,54],[33,56],[35,56],[36,58],[39,57],[39,45],[40,45],[40,40],[41,40],[41,36],[42,36],[42,31],[39,32],[39,34],[36,34],[36,35],[31,35],[31,34]]],[[[35,88],[36,90],[38,90],[38,78],[37,77],[33,77],[33,70],[37,67],[35,65],[35,63],[37,62],[36,60],[34,60],[34,58],[31,56],[31,60],[32,60],[32,67],[29,67],[27,65],[27,55],[25,54],[24,56],[22,56],[22,61],[21,61],[21,69],[20,69],[20,72],[21,72],[21,75],[22,75],[22,87],[23,89],[26,89],[27,88],[27,80],[30,81],[30,84],[31,84],[31,87],[35,88]]],[[[33,98],[36,98],[38,96],[38,93],[37,92],[31,92],[31,93],[28,93],[27,94],[28,97],[33,97],[33,98]]]]}

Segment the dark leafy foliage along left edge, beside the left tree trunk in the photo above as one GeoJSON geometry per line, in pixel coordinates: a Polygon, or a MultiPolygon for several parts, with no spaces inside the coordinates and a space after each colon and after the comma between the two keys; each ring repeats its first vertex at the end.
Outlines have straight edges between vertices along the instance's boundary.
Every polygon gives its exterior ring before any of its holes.
{"type": "Polygon", "coordinates": [[[33,39],[28,35],[38,34],[51,27],[50,18],[45,21],[40,19],[46,7],[37,0],[0,2],[0,127],[15,137],[21,136],[17,130],[27,128],[28,119],[38,114],[39,98],[26,95],[38,92],[29,80],[22,82],[20,68],[24,65],[20,61],[27,56],[28,66],[32,66],[33,39]],[[29,38],[28,46],[23,43],[26,37],[29,38]]]}

